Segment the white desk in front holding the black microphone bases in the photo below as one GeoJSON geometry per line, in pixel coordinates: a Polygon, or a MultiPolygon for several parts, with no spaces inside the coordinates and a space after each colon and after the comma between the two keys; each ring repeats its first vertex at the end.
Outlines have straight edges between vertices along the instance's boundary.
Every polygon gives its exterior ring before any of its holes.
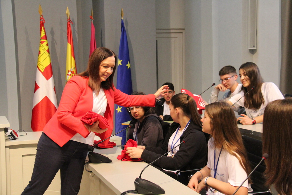
{"type": "MultiPolygon", "coordinates": [[[[100,153],[100,151],[98,151],[100,153]]],[[[102,153],[112,160],[112,163],[102,164],[88,164],[88,168],[93,172],[91,177],[98,183],[96,187],[97,194],[117,194],[127,190],[134,190],[134,181],[136,177],[139,177],[142,169],[147,163],[120,161],[117,156],[121,154],[121,149],[114,147],[111,149],[104,149],[102,153]],[[107,150],[107,152],[105,152],[107,150]]],[[[155,184],[158,184],[165,190],[165,194],[195,194],[197,192],[191,190],[180,182],[176,181],[172,177],[169,177],[160,170],[149,166],[147,167],[141,176],[142,179],[149,180],[155,184]]]]}

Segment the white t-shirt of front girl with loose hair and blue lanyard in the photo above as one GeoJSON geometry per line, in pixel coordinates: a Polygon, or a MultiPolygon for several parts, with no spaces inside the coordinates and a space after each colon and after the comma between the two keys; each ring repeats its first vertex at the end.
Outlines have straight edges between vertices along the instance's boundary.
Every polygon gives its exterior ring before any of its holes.
{"type": "MultiPolygon", "coordinates": [[[[207,166],[208,168],[211,169],[211,177],[214,178],[214,144],[213,144],[213,138],[211,138],[208,141],[208,163],[207,166]]],[[[216,148],[216,159],[215,159],[215,164],[217,164],[218,161],[218,156],[220,153],[220,149],[216,148]]],[[[229,152],[225,151],[224,149],[222,150],[219,161],[218,161],[218,167],[217,167],[217,174],[216,174],[216,179],[220,180],[222,182],[229,183],[232,186],[239,186],[247,177],[246,172],[242,168],[242,166],[239,163],[239,160],[230,154],[229,152]]],[[[208,183],[208,182],[207,182],[208,183]]],[[[252,191],[251,185],[248,184],[248,180],[244,182],[242,185],[243,187],[248,188],[248,191],[252,191]]],[[[222,193],[209,188],[207,191],[207,195],[212,194],[211,191],[214,191],[214,195],[223,195],[222,193]]]]}

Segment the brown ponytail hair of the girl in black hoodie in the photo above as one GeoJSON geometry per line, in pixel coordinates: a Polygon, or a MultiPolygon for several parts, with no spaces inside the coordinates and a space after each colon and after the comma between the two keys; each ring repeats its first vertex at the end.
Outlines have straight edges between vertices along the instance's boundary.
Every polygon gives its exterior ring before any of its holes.
{"type": "Polygon", "coordinates": [[[181,108],[185,115],[190,116],[195,125],[202,127],[201,117],[194,98],[187,94],[176,94],[170,102],[174,108],[181,108]]]}

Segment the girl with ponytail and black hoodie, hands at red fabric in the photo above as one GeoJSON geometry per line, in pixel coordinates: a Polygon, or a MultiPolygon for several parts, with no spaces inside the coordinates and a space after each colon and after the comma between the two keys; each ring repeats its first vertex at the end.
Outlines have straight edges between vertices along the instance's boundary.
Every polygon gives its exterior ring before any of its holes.
{"type": "Polygon", "coordinates": [[[175,172],[178,170],[197,169],[206,165],[207,141],[202,132],[197,104],[191,96],[187,94],[174,95],[169,108],[174,122],[166,134],[162,146],[128,147],[126,153],[131,158],[142,158],[151,163],[185,140],[185,143],[154,163],[161,171],[175,178],[175,172]]]}

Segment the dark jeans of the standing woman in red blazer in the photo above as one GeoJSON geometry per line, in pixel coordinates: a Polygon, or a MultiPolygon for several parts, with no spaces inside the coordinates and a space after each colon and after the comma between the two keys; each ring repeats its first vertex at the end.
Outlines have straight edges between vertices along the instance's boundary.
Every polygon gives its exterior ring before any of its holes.
{"type": "Polygon", "coordinates": [[[36,149],[34,169],[22,194],[44,194],[56,173],[61,173],[61,194],[78,194],[88,145],[69,140],[60,147],[44,132],[36,149]]]}

